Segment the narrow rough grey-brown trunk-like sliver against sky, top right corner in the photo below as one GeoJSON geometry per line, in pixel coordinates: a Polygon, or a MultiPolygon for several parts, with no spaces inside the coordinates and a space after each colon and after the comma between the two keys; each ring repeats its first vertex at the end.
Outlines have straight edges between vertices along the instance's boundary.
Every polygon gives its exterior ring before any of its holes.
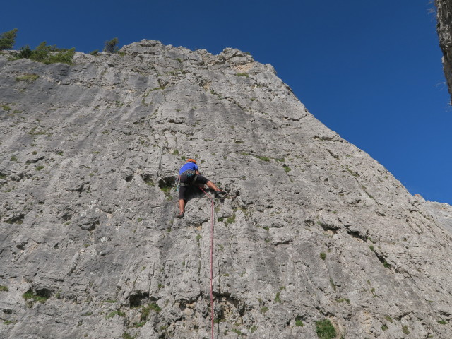
{"type": "Polygon", "coordinates": [[[443,51],[443,67],[452,102],[452,0],[435,0],[436,30],[443,51]]]}

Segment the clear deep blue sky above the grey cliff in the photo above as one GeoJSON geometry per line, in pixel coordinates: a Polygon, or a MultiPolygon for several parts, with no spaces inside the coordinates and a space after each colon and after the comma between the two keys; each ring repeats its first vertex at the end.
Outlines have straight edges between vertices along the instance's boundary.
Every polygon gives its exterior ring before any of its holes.
{"type": "Polygon", "coordinates": [[[0,32],[90,52],[142,39],[251,52],[412,194],[452,204],[452,109],[429,0],[6,1],[0,32]]]}

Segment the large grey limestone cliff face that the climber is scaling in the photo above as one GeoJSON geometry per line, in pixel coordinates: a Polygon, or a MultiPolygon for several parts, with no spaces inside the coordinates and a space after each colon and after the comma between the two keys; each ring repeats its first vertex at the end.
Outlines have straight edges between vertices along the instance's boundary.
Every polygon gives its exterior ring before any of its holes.
{"type": "Polygon", "coordinates": [[[452,208],[323,126],[270,65],[143,40],[0,56],[1,338],[451,338],[452,208]],[[319,330],[320,331],[320,330],[319,330]],[[326,337],[328,338],[328,337],[326,337]]]}

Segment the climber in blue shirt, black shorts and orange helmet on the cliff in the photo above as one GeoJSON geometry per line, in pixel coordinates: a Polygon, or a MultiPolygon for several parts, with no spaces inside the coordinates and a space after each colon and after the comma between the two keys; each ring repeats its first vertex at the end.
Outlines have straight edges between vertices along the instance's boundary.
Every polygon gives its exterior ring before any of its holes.
{"type": "Polygon", "coordinates": [[[196,160],[188,159],[179,170],[179,213],[176,215],[177,218],[184,217],[187,191],[190,186],[196,184],[207,185],[209,189],[213,189],[215,191],[215,197],[226,194],[225,191],[219,189],[213,182],[210,182],[210,180],[199,173],[196,160]]]}

